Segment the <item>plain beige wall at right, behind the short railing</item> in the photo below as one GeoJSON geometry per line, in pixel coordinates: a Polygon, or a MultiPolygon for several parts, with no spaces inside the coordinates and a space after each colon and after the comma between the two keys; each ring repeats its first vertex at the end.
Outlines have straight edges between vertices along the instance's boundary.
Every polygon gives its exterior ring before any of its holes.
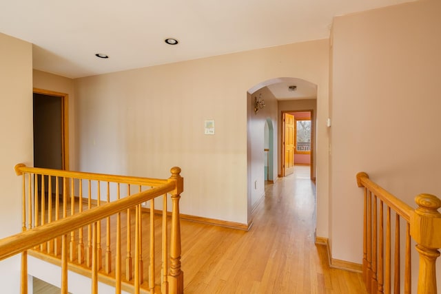
{"type": "Polygon", "coordinates": [[[416,1],[334,20],[333,258],[361,262],[358,171],[412,207],[441,196],[440,15],[440,1],[416,1]]]}

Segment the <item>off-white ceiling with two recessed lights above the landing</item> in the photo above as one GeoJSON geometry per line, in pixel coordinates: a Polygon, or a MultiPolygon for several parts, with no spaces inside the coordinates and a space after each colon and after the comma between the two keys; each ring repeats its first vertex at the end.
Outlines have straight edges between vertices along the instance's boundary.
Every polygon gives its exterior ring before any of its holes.
{"type": "Polygon", "coordinates": [[[78,78],[323,39],[336,15],[404,2],[0,0],[0,32],[34,44],[35,69],[78,78]]]}

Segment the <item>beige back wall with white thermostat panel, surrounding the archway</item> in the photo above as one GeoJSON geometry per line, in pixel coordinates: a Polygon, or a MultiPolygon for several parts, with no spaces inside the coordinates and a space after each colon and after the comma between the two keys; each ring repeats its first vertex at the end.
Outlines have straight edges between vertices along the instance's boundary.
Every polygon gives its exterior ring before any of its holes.
{"type": "MultiPolygon", "coordinates": [[[[328,40],[319,40],[79,78],[77,167],[166,177],[178,165],[186,178],[182,213],[247,224],[247,91],[271,78],[310,81],[325,122],[327,61],[328,40]],[[209,119],[214,136],[203,132],[209,119]]],[[[327,138],[322,143],[318,164],[327,171],[327,138]]],[[[318,178],[327,198],[327,173],[318,178]]]]}

